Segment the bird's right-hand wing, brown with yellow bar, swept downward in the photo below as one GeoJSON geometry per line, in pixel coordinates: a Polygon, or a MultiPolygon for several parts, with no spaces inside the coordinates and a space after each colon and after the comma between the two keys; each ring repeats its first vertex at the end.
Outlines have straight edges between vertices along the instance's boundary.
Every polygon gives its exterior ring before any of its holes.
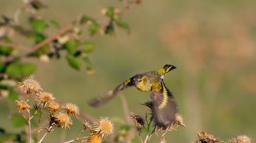
{"type": "Polygon", "coordinates": [[[152,112],[153,119],[158,127],[168,128],[176,120],[177,105],[171,91],[165,87],[162,81],[162,89],[152,93],[152,112]]]}

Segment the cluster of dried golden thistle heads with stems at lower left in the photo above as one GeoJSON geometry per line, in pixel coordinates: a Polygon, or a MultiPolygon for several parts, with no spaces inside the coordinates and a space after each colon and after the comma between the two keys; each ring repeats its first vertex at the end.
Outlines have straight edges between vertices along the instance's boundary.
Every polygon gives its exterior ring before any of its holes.
{"type": "MultiPolygon", "coordinates": [[[[32,142],[32,127],[31,127],[31,119],[38,113],[38,127],[37,127],[37,140],[39,143],[43,142],[44,138],[48,133],[52,133],[54,131],[54,127],[59,127],[61,129],[67,129],[70,125],[73,125],[72,116],[75,118],[80,118],[79,107],[75,104],[71,103],[63,103],[62,105],[55,101],[52,93],[43,91],[41,85],[35,81],[34,79],[27,78],[20,82],[19,88],[21,91],[26,93],[27,101],[16,100],[16,107],[18,107],[19,112],[23,115],[26,121],[29,124],[29,142],[32,142]],[[31,115],[29,100],[33,99],[35,104],[33,107],[35,109],[34,113],[31,115]],[[49,120],[48,127],[40,127],[40,122],[43,112],[46,110],[49,114],[45,114],[49,120]],[[21,111],[27,111],[27,114],[23,114],[21,111]],[[26,115],[26,116],[25,116],[26,115]],[[45,131],[44,135],[40,138],[40,131],[45,131]]],[[[79,121],[84,121],[84,119],[80,119],[79,121]]],[[[76,139],[67,142],[91,142],[98,143],[102,142],[106,136],[109,136],[113,133],[113,123],[108,118],[100,118],[96,122],[90,124],[87,121],[82,122],[82,131],[80,131],[79,135],[76,139]],[[90,132],[89,135],[80,137],[82,132],[88,130],[90,132]]]]}

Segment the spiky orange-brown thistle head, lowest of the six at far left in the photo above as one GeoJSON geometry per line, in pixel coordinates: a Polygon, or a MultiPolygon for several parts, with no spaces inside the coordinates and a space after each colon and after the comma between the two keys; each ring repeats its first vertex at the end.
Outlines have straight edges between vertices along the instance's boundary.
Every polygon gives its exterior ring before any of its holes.
{"type": "Polygon", "coordinates": [[[70,119],[70,117],[66,114],[66,113],[57,113],[54,116],[54,123],[58,126],[58,127],[68,127],[69,125],[73,124],[73,121],[70,119]]]}

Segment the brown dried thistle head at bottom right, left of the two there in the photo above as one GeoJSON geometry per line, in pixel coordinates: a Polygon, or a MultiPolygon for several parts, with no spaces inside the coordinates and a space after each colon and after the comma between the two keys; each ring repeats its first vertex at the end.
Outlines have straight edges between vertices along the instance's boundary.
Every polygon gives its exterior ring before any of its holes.
{"type": "Polygon", "coordinates": [[[221,142],[219,138],[216,136],[211,135],[207,131],[199,131],[197,132],[198,140],[196,142],[202,143],[218,143],[221,142]]]}

